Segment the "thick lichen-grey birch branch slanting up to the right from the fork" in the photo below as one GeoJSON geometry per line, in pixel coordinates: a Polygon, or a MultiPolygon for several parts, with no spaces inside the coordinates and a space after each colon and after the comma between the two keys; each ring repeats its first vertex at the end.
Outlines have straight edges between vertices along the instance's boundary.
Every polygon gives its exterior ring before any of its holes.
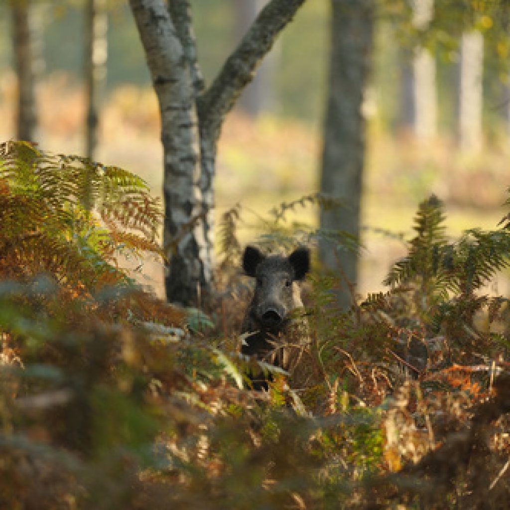
{"type": "Polygon", "coordinates": [[[198,98],[200,130],[217,139],[225,115],[232,109],[253,71],[306,0],[271,0],[259,13],[239,46],[225,61],[211,86],[198,98]]]}

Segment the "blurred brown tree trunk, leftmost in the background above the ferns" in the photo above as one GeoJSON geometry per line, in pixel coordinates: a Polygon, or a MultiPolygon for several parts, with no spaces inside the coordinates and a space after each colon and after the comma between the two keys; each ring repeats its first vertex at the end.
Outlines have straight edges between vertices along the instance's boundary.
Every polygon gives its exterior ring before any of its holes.
{"type": "Polygon", "coordinates": [[[16,138],[35,142],[39,138],[37,82],[44,69],[42,57],[41,5],[30,0],[11,0],[14,67],[18,82],[16,138]]]}

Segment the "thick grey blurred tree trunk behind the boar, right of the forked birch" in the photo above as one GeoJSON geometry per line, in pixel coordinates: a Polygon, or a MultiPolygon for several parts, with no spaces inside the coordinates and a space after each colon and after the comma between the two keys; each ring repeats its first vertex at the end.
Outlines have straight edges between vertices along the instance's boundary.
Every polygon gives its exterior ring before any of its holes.
{"type": "MultiPolygon", "coordinates": [[[[362,105],[371,68],[374,0],[333,0],[332,7],[321,192],[341,198],[346,207],[321,210],[320,226],[359,237],[366,148],[362,105]]],[[[326,241],[320,243],[319,256],[326,269],[347,280],[338,292],[339,304],[347,308],[349,286],[357,283],[358,257],[326,241]]]]}

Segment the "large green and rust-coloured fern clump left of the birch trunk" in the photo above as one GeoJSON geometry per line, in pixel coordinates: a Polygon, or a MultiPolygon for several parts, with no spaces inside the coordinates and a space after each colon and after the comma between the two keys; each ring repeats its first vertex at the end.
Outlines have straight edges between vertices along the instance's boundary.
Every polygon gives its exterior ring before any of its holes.
{"type": "Polygon", "coordinates": [[[140,177],[27,142],[0,144],[2,273],[49,272],[90,290],[130,278],[117,253],[161,255],[161,207],[140,177]],[[91,206],[94,207],[91,207],[91,206]]]}

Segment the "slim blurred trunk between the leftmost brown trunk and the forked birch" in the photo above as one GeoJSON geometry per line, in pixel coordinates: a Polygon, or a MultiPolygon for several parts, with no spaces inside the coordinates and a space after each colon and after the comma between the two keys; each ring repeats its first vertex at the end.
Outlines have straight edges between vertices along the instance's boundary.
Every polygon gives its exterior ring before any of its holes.
{"type": "Polygon", "coordinates": [[[95,157],[101,95],[106,82],[108,18],[106,0],[86,0],[85,4],[85,156],[95,157]]]}

